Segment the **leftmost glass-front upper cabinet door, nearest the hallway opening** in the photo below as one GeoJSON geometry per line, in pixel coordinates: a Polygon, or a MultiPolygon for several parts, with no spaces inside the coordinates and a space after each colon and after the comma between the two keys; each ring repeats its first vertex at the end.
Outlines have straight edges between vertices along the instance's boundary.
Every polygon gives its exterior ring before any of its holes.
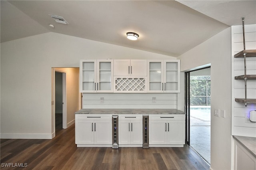
{"type": "Polygon", "coordinates": [[[80,61],[80,92],[96,93],[96,60],[80,61]]]}

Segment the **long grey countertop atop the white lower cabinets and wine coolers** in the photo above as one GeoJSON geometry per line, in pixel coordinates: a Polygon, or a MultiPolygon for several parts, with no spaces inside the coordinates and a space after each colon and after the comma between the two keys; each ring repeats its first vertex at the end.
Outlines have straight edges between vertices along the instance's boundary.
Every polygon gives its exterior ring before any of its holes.
{"type": "Polygon", "coordinates": [[[177,109],[81,109],[75,114],[186,114],[177,109]]]}

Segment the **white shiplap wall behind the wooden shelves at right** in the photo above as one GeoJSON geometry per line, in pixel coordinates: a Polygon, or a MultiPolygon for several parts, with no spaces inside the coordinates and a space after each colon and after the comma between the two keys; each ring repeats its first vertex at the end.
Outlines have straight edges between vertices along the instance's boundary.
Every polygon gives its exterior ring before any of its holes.
{"type": "MultiPolygon", "coordinates": [[[[256,49],[256,24],[245,25],[246,49],[256,49]]],[[[244,98],[244,80],[234,80],[235,76],[244,75],[244,58],[234,58],[234,54],[244,49],[242,26],[232,26],[232,94],[233,99],[244,98]]],[[[256,74],[256,57],[246,58],[246,74],[256,74]]],[[[256,80],[247,80],[247,98],[256,98],[256,80]]],[[[245,115],[256,110],[256,104],[233,101],[232,135],[256,137],[256,123],[246,123],[245,115]]]]}

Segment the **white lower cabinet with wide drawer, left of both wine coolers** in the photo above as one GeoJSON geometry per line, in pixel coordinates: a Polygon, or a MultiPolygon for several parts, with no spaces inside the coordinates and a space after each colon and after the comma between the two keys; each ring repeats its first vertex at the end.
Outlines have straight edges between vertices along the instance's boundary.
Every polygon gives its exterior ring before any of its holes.
{"type": "Polygon", "coordinates": [[[112,115],[76,115],[77,146],[112,146],[112,115]]]}

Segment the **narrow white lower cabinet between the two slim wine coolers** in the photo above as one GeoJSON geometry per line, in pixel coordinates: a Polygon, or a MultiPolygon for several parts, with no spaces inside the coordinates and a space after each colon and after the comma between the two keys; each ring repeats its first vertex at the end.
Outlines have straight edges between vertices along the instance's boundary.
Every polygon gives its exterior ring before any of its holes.
{"type": "Polygon", "coordinates": [[[142,146],[142,115],[119,115],[118,128],[120,146],[142,146]]]}

